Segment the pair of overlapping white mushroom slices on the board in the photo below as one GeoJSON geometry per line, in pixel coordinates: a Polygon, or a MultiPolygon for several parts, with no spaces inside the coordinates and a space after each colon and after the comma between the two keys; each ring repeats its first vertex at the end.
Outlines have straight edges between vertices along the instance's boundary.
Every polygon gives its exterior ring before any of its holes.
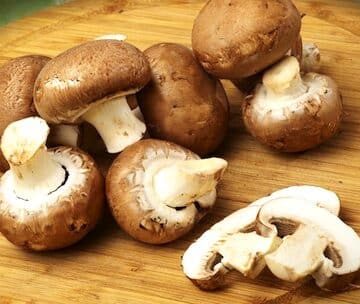
{"type": "Polygon", "coordinates": [[[311,275],[322,289],[344,290],[360,270],[360,238],[339,211],[323,188],[276,191],[206,231],[183,255],[183,271],[204,290],[223,286],[231,270],[255,278],[266,266],[282,280],[311,275]]]}

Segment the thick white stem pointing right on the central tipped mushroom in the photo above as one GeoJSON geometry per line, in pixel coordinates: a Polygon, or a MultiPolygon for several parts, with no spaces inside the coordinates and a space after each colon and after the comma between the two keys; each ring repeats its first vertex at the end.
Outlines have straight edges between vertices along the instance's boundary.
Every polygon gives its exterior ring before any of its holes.
{"type": "Polygon", "coordinates": [[[184,207],[214,190],[227,162],[221,158],[177,161],[154,176],[155,193],[170,207],[184,207]]]}

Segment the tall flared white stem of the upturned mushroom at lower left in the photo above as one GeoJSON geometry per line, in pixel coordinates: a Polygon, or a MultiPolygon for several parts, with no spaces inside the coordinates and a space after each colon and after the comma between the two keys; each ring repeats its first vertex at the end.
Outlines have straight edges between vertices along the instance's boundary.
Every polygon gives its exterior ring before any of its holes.
{"type": "Polygon", "coordinates": [[[15,194],[24,200],[47,195],[65,181],[65,169],[46,150],[48,134],[39,117],[16,121],[4,131],[1,149],[13,172],[15,194]]]}

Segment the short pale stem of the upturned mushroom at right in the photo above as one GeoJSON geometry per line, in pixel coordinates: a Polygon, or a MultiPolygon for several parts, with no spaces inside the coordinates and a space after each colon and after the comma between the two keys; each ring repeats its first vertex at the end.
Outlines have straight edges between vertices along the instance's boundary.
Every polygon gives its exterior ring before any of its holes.
{"type": "Polygon", "coordinates": [[[300,65],[295,57],[285,57],[279,63],[267,70],[263,76],[263,84],[269,92],[277,96],[294,98],[306,93],[308,87],[302,81],[300,65]]]}

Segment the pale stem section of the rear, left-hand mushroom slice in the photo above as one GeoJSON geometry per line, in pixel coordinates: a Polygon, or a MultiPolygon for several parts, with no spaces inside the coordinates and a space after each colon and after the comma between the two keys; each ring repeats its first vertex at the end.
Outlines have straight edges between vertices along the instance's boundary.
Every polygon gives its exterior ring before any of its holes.
{"type": "Polygon", "coordinates": [[[263,257],[280,244],[281,239],[277,236],[265,238],[256,232],[239,232],[228,237],[219,247],[219,253],[223,256],[221,263],[246,277],[255,278],[266,266],[263,257]]]}

